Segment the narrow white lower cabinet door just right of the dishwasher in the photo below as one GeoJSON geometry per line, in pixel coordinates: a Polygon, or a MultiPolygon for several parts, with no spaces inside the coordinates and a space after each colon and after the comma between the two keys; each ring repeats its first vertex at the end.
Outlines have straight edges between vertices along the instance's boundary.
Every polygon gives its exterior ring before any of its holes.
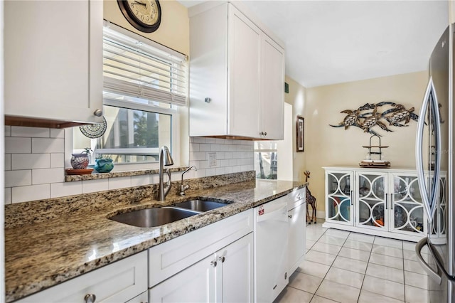
{"type": "Polygon", "coordinates": [[[299,267],[305,255],[306,203],[288,211],[289,218],[289,275],[299,267]]]}

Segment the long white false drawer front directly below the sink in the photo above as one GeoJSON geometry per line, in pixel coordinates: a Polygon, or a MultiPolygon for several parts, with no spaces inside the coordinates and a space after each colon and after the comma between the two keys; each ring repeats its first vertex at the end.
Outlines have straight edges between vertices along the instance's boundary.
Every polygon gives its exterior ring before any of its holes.
{"type": "Polygon", "coordinates": [[[149,249],[149,287],[253,230],[253,210],[225,218],[149,249]]]}

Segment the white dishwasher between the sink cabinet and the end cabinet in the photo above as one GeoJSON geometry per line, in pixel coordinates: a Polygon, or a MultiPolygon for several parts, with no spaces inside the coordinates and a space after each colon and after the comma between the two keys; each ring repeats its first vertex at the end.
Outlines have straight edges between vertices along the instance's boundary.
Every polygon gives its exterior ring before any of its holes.
{"type": "Polygon", "coordinates": [[[287,200],[255,208],[255,302],[273,302],[289,280],[287,200]]]}

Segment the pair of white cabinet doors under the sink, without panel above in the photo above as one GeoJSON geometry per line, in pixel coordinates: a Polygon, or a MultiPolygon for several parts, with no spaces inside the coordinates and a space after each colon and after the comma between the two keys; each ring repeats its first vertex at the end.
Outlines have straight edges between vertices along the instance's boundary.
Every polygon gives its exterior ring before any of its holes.
{"type": "Polygon", "coordinates": [[[252,302],[252,233],[149,289],[150,302],[252,302]]]}

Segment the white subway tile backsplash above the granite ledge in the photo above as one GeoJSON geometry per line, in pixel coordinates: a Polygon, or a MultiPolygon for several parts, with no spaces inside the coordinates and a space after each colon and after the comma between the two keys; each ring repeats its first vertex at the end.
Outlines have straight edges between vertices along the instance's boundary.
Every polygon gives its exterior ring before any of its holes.
{"type": "MultiPolygon", "coordinates": [[[[254,170],[254,142],[191,137],[185,179],[254,170]]],[[[65,182],[65,131],[5,127],[5,204],[156,184],[157,174],[65,182]]],[[[181,172],[172,173],[173,182],[181,172]]]]}

